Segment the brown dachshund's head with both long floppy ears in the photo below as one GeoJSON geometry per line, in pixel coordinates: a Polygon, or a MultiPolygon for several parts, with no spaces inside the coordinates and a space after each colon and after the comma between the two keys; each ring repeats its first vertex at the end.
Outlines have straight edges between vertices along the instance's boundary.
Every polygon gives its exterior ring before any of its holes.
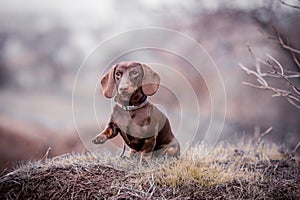
{"type": "Polygon", "coordinates": [[[139,88],[145,95],[151,96],[157,92],[159,84],[159,75],[147,65],[137,62],[116,64],[101,79],[105,97],[112,98],[117,91],[124,101],[129,100],[139,88]]]}

